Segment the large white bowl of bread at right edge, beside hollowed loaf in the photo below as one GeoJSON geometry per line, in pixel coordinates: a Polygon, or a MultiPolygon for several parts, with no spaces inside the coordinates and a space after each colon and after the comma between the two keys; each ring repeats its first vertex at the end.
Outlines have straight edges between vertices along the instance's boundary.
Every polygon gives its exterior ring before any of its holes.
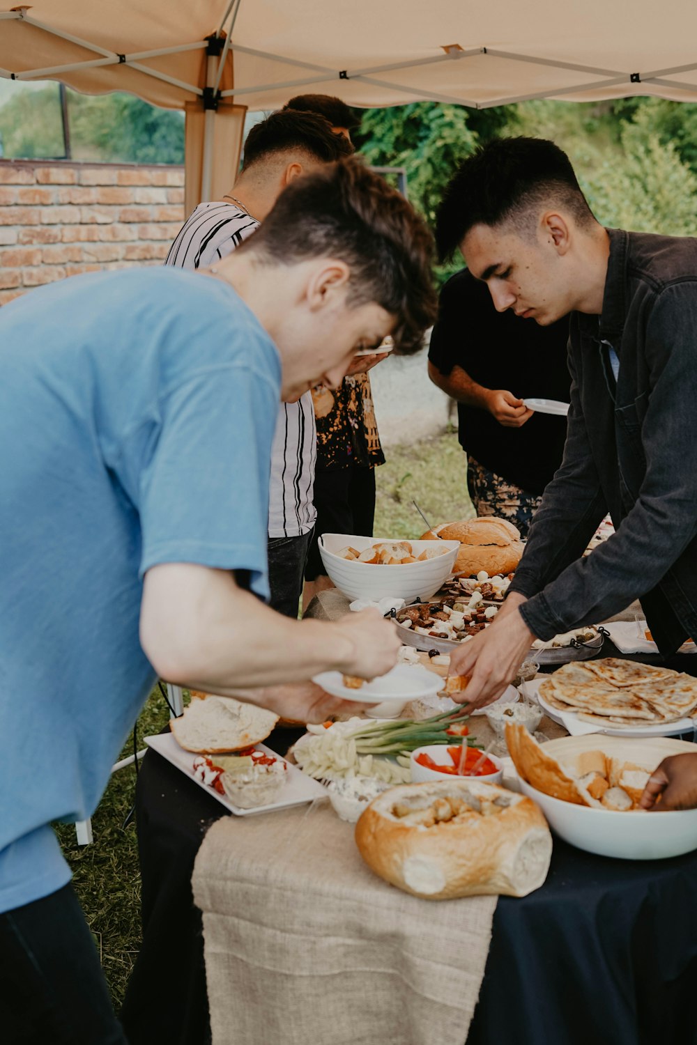
{"type": "MultiPolygon", "coordinates": [[[[694,744],[682,740],[665,737],[638,740],[598,734],[561,737],[549,741],[543,748],[570,767],[582,751],[601,750],[651,770],[669,754],[697,753],[694,744]]],[[[625,860],[661,860],[697,849],[697,809],[618,813],[552,798],[524,780],[520,780],[520,790],[537,803],[555,834],[588,853],[625,860]]]]}

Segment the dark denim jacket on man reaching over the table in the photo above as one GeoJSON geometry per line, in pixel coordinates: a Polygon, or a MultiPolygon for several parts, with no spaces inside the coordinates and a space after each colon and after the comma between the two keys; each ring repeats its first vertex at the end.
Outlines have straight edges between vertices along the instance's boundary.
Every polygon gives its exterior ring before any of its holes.
{"type": "Polygon", "coordinates": [[[543,640],[641,598],[669,654],[697,638],[697,239],[608,231],[602,315],[572,316],[563,461],[511,590],[543,640]],[[617,533],[582,558],[606,511],[617,533]]]}

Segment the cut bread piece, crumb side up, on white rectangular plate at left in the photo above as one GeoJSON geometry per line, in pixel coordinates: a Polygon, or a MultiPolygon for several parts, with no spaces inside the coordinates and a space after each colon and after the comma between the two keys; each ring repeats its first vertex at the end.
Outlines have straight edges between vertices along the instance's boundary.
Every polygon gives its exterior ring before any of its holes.
{"type": "Polygon", "coordinates": [[[278,715],[232,697],[192,700],[169,728],[180,747],[198,754],[240,751],[265,740],[278,715]]]}

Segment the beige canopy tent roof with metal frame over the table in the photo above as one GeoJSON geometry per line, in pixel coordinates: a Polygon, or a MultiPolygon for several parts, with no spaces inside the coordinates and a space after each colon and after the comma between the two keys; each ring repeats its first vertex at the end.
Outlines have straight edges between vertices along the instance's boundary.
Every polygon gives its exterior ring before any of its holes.
{"type": "Polygon", "coordinates": [[[684,0],[34,0],[0,10],[0,75],[131,91],[186,112],[187,208],[225,192],[247,109],[294,94],[354,106],[433,99],[697,100],[684,0]]]}

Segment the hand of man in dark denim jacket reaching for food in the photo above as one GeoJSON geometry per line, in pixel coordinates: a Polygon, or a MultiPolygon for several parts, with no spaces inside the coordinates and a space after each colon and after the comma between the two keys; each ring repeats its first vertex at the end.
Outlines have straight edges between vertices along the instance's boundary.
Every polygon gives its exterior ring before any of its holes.
{"type": "Polygon", "coordinates": [[[483,707],[490,704],[515,678],[515,673],[534,642],[534,634],[520,617],[525,597],[512,593],[494,622],[450,654],[450,675],[466,675],[467,689],[452,694],[454,700],[483,707]]]}

